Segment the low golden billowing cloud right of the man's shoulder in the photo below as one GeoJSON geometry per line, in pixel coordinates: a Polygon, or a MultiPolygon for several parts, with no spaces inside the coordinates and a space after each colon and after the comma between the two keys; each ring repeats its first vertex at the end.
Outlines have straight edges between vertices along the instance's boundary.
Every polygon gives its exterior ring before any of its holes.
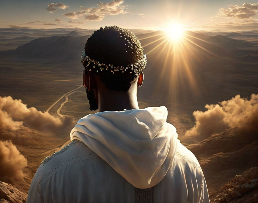
{"type": "Polygon", "coordinates": [[[232,128],[240,131],[258,130],[258,94],[252,94],[250,100],[236,95],[219,104],[206,104],[205,112],[195,111],[195,125],[186,131],[186,136],[208,138],[213,133],[232,128]]]}

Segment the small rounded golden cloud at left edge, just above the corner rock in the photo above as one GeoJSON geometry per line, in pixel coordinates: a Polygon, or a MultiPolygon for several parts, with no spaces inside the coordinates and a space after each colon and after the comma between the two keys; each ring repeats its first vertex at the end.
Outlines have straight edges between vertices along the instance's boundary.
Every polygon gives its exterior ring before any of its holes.
{"type": "Polygon", "coordinates": [[[0,140],[0,179],[1,181],[14,183],[22,181],[22,170],[27,166],[27,159],[20,153],[10,141],[0,140]]]}

